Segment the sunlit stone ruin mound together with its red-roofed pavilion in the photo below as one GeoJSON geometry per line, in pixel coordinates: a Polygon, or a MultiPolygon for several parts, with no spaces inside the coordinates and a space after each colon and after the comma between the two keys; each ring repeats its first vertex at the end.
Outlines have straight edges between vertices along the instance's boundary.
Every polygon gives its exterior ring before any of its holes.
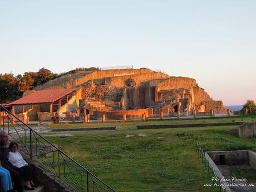
{"type": "Polygon", "coordinates": [[[24,121],[26,116],[49,121],[52,114],[87,122],[227,113],[223,102],[211,99],[195,79],[146,68],[68,74],[25,92],[10,106],[24,121]]]}

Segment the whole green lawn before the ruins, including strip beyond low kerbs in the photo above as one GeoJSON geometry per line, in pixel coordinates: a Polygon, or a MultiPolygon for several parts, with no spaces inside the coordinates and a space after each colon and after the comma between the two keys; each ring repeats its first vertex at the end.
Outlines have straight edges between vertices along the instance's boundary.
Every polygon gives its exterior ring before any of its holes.
{"type": "MultiPolygon", "coordinates": [[[[254,118],[255,119],[255,118],[254,118]]],[[[243,121],[254,120],[252,117],[243,121]]],[[[148,121],[146,124],[189,122],[230,122],[231,119],[148,121]]],[[[139,122],[139,124],[145,124],[139,122]]],[[[238,126],[193,127],[178,129],[134,129],[138,122],[116,124],[114,131],[72,132],[73,136],[47,136],[47,139],[116,191],[219,191],[211,183],[196,149],[205,151],[256,150],[252,139],[240,139],[238,126]],[[143,136],[141,136],[141,134],[143,136]],[[126,137],[130,135],[130,137],[126,137]]],[[[95,124],[101,125],[102,124],[95,124]]],[[[112,124],[109,124],[112,125],[112,124]]],[[[50,127],[79,127],[51,125],[50,127]]],[[[87,126],[84,124],[83,126],[87,126]]]]}

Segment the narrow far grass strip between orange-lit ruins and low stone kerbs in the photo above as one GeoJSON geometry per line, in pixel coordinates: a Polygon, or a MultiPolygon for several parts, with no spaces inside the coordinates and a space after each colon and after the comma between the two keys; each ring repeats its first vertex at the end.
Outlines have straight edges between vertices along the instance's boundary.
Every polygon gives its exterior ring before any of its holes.
{"type": "Polygon", "coordinates": [[[137,125],[163,125],[163,124],[196,124],[196,123],[210,123],[210,122],[240,122],[240,121],[256,121],[256,116],[234,116],[234,117],[208,117],[198,119],[164,119],[164,120],[150,120],[143,121],[127,121],[127,122],[90,122],[90,123],[76,123],[76,124],[53,124],[49,125],[50,129],[58,128],[79,128],[79,127],[101,127],[101,126],[116,126],[116,129],[136,129],[137,125]]]}

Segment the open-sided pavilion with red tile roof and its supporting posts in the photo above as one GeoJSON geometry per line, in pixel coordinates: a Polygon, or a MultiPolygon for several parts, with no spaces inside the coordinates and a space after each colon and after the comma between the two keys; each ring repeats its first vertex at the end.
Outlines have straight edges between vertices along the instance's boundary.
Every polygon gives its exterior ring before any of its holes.
{"type": "Polygon", "coordinates": [[[33,108],[33,105],[40,105],[43,109],[41,112],[56,112],[58,109],[61,109],[62,105],[68,102],[75,91],[75,88],[35,91],[21,99],[11,102],[9,106],[12,106],[13,114],[15,114],[16,106],[22,106],[22,112],[24,112],[24,106],[26,105],[30,105],[31,108],[33,108]]]}

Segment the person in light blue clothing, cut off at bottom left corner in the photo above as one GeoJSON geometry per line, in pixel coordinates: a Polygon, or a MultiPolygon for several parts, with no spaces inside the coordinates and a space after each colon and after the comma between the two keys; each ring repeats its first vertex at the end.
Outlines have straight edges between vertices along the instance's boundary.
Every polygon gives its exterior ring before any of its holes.
{"type": "Polygon", "coordinates": [[[2,168],[0,161],[0,191],[6,192],[12,190],[12,180],[7,169],[2,168]]]}

